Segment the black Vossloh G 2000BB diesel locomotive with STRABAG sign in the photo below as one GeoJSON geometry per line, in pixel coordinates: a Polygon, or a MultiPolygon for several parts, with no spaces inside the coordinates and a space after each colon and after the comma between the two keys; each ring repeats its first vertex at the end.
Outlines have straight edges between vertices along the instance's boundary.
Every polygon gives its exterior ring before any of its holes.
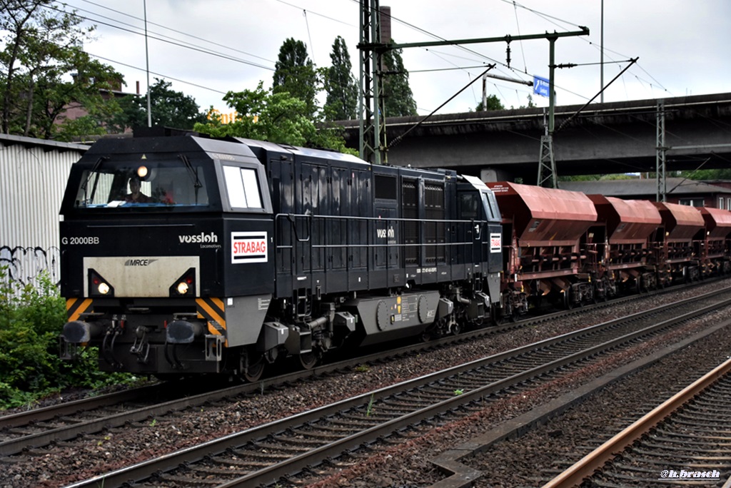
{"type": "Polygon", "coordinates": [[[500,310],[493,192],[449,170],[193,134],[96,142],[61,207],[62,357],[231,373],[500,310]]]}

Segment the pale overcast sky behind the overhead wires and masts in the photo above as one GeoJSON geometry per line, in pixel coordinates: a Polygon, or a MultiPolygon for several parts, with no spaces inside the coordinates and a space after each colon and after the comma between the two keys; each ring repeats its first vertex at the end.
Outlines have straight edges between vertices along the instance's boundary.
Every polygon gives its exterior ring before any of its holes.
{"type": "MultiPolygon", "coordinates": [[[[146,93],[145,7],[143,0],[67,0],[98,28],[88,53],[124,75],[126,91],[146,93]]],[[[557,104],[583,104],[600,89],[602,0],[382,0],[391,8],[395,42],[477,39],[545,32],[590,30],[588,36],[556,41],[557,104]]],[[[221,101],[227,91],[270,87],[279,48],[288,37],[306,43],[319,67],[330,66],[333,41],[340,35],[349,47],[353,75],[358,75],[359,2],[357,0],[146,0],[151,83],[162,77],[173,90],[193,96],[205,109],[229,111],[221,101]]],[[[731,1],[607,0],[604,2],[604,80],[609,83],[629,58],[634,66],[605,91],[605,102],[656,99],[731,91],[731,1]]],[[[491,74],[516,80],[548,78],[549,42],[545,39],[463,47],[411,47],[404,66],[420,115],[446,102],[485,64],[491,74]]],[[[527,104],[532,88],[488,79],[488,95],[505,107],[527,104]]],[[[482,99],[475,81],[439,113],[466,112],[482,99]]],[[[540,106],[548,99],[533,96],[540,106]]],[[[599,98],[597,98],[597,101],[599,98]]]]}

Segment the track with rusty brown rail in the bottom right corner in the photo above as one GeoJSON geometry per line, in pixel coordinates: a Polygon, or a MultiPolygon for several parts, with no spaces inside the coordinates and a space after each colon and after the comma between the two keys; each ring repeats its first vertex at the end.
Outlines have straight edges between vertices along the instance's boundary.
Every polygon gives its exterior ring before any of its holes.
{"type": "Polygon", "coordinates": [[[724,488],[729,487],[730,426],[728,359],[618,432],[544,488],[722,483],[724,488]]]}

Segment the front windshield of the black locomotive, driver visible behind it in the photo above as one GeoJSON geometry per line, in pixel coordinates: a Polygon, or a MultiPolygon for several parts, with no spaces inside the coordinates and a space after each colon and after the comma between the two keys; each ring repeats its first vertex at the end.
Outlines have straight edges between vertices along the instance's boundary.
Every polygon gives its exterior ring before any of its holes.
{"type": "Polygon", "coordinates": [[[100,160],[84,169],[75,208],[206,207],[205,172],[188,161],[100,160]]]}

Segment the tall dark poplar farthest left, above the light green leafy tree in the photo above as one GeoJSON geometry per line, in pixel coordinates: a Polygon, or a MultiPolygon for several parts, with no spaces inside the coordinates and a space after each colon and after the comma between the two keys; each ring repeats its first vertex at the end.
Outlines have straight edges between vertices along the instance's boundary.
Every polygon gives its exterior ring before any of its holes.
{"type": "Polygon", "coordinates": [[[274,66],[273,93],[287,92],[302,100],[306,113],[314,117],[319,83],[317,70],[307,55],[307,46],[289,37],[279,48],[279,60],[274,66]]]}

